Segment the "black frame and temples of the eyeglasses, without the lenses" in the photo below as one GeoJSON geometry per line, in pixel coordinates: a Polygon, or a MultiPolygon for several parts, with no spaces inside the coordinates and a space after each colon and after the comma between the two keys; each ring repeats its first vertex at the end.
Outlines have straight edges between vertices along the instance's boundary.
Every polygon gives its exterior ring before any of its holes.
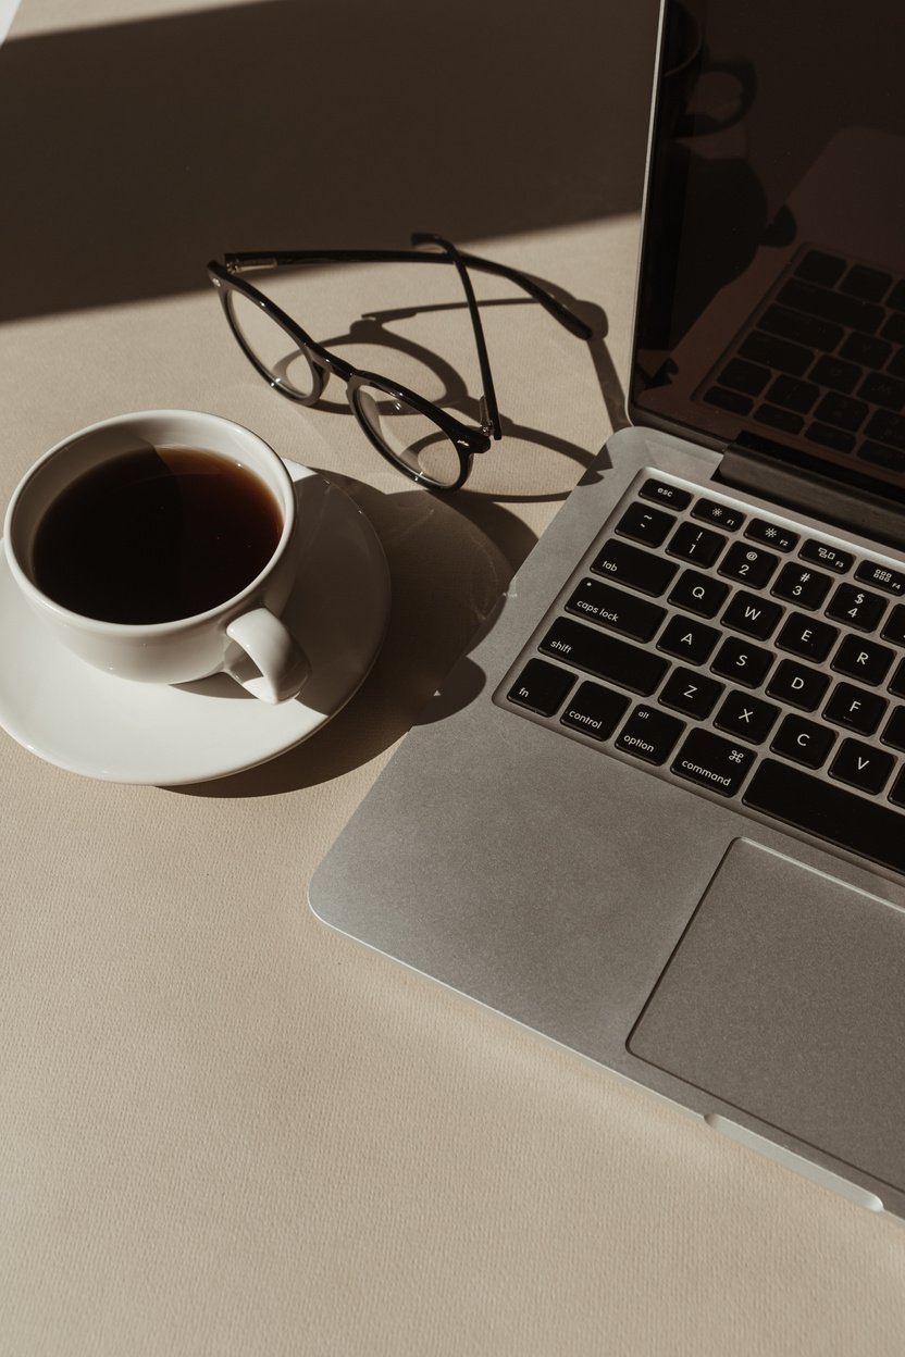
{"type": "Polygon", "coordinates": [[[488,452],[493,440],[502,437],[499,425],[499,411],[497,406],[497,395],[494,391],[493,376],[490,370],[490,360],[487,356],[487,345],[484,341],[484,331],[480,322],[480,312],[478,308],[478,301],[472,288],[471,278],[468,277],[468,269],[479,269],[484,273],[497,274],[498,277],[507,278],[517,286],[522,288],[535,301],[540,303],[545,311],[548,311],[560,324],[563,324],[571,334],[581,339],[592,338],[592,328],[579,316],[569,309],[558,297],[543,288],[540,284],[535,282],[526,274],[517,269],[510,269],[507,265],[494,263],[490,259],[482,259],[478,255],[467,254],[460,251],[449,240],[442,236],[437,236],[429,232],[415,232],[411,236],[412,246],[437,246],[442,251],[427,252],[425,250],[277,250],[269,252],[242,252],[242,254],[227,254],[224,256],[224,263],[218,261],[210,261],[208,263],[208,277],[210,278],[214,288],[220,293],[220,301],[224,309],[224,315],[232,330],[242,351],[246,354],[251,365],[256,372],[267,381],[274,391],[281,395],[288,396],[290,400],[299,404],[311,406],[320,399],[327,380],[331,376],[339,377],[346,384],[346,398],[349,406],[355,415],[355,419],[361,425],[362,430],[368,436],[369,442],[377,449],[377,452],[387,459],[398,471],[410,476],[419,484],[427,486],[431,490],[440,491],[453,491],[461,489],[468,479],[471,472],[472,460],[476,455],[488,452]],[[445,263],[452,265],[459,278],[463,284],[465,293],[465,301],[468,304],[468,313],[471,318],[472,331],[475,337],[475,346],[478,350],[478,362],[480,368],[480,377],[483,384],[483,394],[480,396],[480,417],[482,425],[475,429],[472,425],[465,425],[463,421],[450,415],[442,406],[434,404],[433,400],[427,400],[425,396],[419,396],[418,392],[411,391],[408,387],[399,385],[376,372],[368,372],[362,368],[355,368],[339,358],[335,353],[324,349],[323,345],[317,343],[315,339],[307,334],[301,326],[292,319],[275,301],[265,296],[254,284],[248,282],[243,277],[244,273],[273,270],[273,269],[292,269],[312,263],[445,263]],[[270,372],[270,369],[258,358],[255,351],[247,343],[242,327],[236,322],[232,304],[231,292],[240,292],[248,301],[261,307],[262,311],[281,328],[284,328],[300,353],[304,354],[308,366],[311,368],[312,389],[311,392],[303,394],[294,391],[289,385],[284,385],[278,377],[270,372]],[[421,415],[434,423],[452,442],[459,455],[459,476],[455,482],[446,483],[431,478],[425,472],[417,471],[414,467],[402,461],[391,448],[388,448],[377,436],[376,430],[368,421],[366,415],[360,406],[360,391],[362,387],[376,387],[383,391],[391,399],[400,400],[408,404],[411,408],[417,410],[421,415]]]}

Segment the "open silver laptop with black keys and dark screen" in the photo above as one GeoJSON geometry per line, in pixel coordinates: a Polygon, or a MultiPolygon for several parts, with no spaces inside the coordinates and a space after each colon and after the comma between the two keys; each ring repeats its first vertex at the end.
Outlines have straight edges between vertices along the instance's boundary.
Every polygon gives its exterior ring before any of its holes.
{"type": "Polygon", "coordinates": [[[332,928],[896,1216],[904,28],[666,0],[631,426],[309,886],[332,928]]]}

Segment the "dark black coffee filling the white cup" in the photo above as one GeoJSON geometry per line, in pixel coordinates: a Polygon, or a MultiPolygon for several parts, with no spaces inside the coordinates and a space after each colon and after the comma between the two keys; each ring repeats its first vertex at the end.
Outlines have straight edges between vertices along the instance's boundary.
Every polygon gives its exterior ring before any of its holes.
{"type": "Polygon", "coordinates": [[[38,527],[34,578],[103,622],[175,622],[267,565],[282,514],[258,476],[194,448],[123,453],[75,480],[38,527]]]}

